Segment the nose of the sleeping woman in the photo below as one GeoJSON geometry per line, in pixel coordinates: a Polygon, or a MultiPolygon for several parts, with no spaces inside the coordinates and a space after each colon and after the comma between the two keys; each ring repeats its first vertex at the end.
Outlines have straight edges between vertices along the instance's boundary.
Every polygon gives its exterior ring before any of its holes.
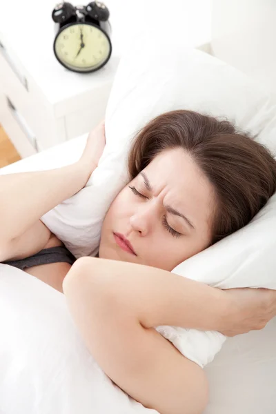
{"type": "Polygon", "coordinates": [[[130,226],[132,230],[140,233],[141,236],[146,236],[154,226],[154,220],[157,217],[157,208],[152,203],[144,204],[130,217],[130,226]]]}

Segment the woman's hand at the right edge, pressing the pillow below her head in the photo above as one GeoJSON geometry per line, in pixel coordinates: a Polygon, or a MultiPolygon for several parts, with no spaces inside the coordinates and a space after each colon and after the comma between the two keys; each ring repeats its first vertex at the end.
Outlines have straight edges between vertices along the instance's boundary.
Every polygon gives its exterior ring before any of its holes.
{"type": "Polygon", "coordinates": [[[276,316],[276,290],[236,288],[224,292],[232,302],[230,324],[221,333],[233,337],[259,330],[276,316]]]}

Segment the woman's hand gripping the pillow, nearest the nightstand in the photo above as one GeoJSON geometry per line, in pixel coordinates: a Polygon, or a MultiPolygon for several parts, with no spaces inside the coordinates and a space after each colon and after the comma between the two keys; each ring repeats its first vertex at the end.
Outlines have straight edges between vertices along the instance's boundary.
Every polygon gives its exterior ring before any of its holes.
{"type": "Polygon", "coordinates": [[[97,127],[89,133],[86,147],[84,148],[83,154],[79,159],[79,162],[86,168],[89,176],[95,168],[97,168],[105,146],[105,125],[104,121],[101,121],[99,125],[97,125],[97,127]]]}

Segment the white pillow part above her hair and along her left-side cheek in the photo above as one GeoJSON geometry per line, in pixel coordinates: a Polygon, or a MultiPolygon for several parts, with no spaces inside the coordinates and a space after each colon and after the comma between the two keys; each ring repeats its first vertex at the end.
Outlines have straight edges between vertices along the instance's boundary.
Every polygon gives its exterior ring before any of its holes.
{"type": "Polygon", "coordinates": [[[137,43],[119,63],[99,167],[83,191],[43,217],[76,257],[97,253],[103,217],[128,181],[132,138],[153,117],[179,108],[233,119],[276,152],[276,104],[246,75],[199,50],[184,48],[180,54],[177,44],[137,43]]]}

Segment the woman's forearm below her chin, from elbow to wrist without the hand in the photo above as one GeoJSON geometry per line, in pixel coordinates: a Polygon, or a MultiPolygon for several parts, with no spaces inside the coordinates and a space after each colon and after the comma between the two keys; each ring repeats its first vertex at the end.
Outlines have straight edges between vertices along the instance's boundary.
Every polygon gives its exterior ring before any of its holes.
{"type": "Polygon", "coordinates": [[[97,288],[106,290],[145,328],[160,325],[221,331],[232,311],[228,295],[166,270],[108,259],[83,258],[97,288]]]}

